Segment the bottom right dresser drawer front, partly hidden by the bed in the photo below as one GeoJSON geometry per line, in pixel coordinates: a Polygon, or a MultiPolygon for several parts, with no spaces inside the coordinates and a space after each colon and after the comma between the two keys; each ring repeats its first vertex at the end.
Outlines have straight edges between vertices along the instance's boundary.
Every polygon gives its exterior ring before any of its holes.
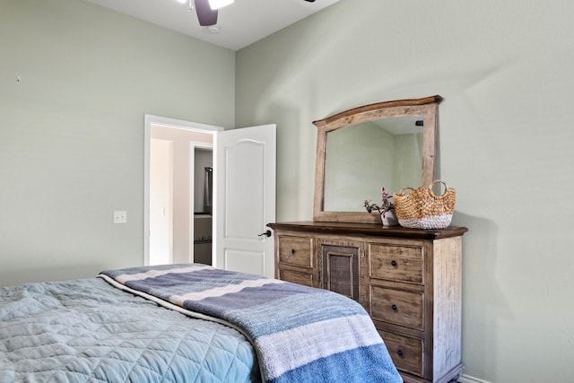
{"type": "Polygon", "coordinates": [[[397,370],[422,377],[422,339],[386,331],[378,331],[378,334],[387,344],[388,353],[397,370]]]}

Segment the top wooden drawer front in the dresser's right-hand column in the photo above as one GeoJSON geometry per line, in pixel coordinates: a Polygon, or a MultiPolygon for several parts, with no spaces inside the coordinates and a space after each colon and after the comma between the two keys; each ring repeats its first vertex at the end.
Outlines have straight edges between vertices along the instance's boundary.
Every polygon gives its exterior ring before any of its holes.
{"type": "Polygon", "coordinates": [[[369,249],[371,277],[424,284],[422,247],[370,243],[369,249]]]}

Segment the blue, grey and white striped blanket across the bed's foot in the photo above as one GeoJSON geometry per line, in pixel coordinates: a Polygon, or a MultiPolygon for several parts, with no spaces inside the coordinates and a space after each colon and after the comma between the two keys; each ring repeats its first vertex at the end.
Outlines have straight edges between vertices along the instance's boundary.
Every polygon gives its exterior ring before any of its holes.
{"type": "Polygon", "coordinates": [[[239,329],[266,382],[402,382],[367,312],[343,295],[199,264],[104,271],[119,288],[239,329]]]}

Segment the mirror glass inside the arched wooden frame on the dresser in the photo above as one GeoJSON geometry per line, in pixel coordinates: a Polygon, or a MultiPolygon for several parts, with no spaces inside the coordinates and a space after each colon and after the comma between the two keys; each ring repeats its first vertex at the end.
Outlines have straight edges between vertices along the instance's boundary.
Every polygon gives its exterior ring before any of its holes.
{"type": "Polygon", "coordinates": [[[422,117],[381,118],[328,132],[325,211],[364,212],[380,187],[396,192],[422,178],[422,117]],[[417,125],[418,122],[418,125],[417,125]]]}

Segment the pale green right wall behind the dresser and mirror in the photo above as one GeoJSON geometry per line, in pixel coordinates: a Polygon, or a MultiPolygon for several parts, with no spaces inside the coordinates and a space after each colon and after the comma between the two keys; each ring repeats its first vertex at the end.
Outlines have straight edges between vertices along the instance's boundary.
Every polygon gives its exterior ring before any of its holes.
{"type": "Polygon", "coordinates": [[[457,189],[454,224],[470,229],[468,377],[574,377],[573,14],[568,0],[342,0],[236,57],[237,125],[277,124],[279,221],[312,217],[311,121],[445,98],[439,177],[457,189]]]}

